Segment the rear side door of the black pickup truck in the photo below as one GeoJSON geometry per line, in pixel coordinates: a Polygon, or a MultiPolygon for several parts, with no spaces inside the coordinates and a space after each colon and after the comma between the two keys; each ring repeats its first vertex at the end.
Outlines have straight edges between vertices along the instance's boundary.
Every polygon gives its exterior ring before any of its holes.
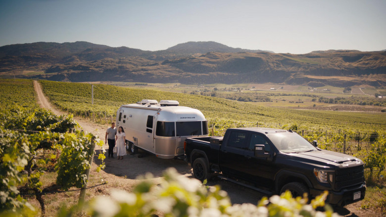
{"type": "Polygon", "coordinates": [[[244,152],[249,146],[247,144],[247,132],[233,130],[226,144],[223,143],[220,149],[220,167],[225,175],[240,177],[241,168],[244,164],[244,152]],[[225,146],[224,146],[225,145],[225,146]]]}

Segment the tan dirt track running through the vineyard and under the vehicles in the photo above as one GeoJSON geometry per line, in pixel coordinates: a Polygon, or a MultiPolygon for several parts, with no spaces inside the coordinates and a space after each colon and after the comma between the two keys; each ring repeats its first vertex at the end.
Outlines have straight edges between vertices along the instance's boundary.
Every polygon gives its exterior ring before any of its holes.
{"type": "MultiPolygon", "coordinates": [[[[42,88],[38,81],[34,81],[34,88],[37,93],[38,103],[42,108],[51,110],[56,115],[66,114],[65,112],[59,111],[54,106],[52,106],[46,96],[43,94],[42,88]]],[[[105,131],[109,126],[101,126],[95,123],[89,122],[88,120],[81,119],[79,117],[74,117],[76,122],[82,127],[83,130],[91,132],[94,135],[98,135],[99,138],[104,143],[105,131]]],[[[103,145],[103,149],[107,151],[108,146],[103,145]]],[[[102,150],[98,149],[97,153],[100,153],[102,150]]],[[[106,154],[107,155],[107,154],[106,154]]],[[[95,157],[94,162],[97,162],[97,157],[95,157]]],[[[175,160],[175,159],[160,159],[154,155],[147,154],[140,150],[140,154],[124,156],[123,160],[117,160],[116,158],[106,158],[105,159],[106,168],[100,173],[96,173],[95,170],[92,170],[90,174],[90,184],[89,186],[97,185],[103,181],[107,181],[107,184],[100,185],[95,188],[88,190],[88,199],[100,196],[108,195],[111,189],[118,188],[124,189],[127,191],[132,191],[133,187],[139,183],[141,180],[137,178],[138,175],[144,175],[147,172],[153,174],[153,180],[155,182],[160,182],[162,172],[169,167],[174,167],[179,174],[184,176],[192,176],[192,169],[188,166],[185,161],[175,160]]],[[[96,168],[96,164],[93,164],[93,169],[96,168]]],[[[207,185],[220,185],[221,189],[228,192],[229,197],[231,198],[232,203],[252,203],[257,204],[264,194],[257,191],[250,190],[240,185],[233,184],[228,181],[219,180],[214,178],[207,183],[207,185]]],[[[78,199],[79,193],[76,195],[78,199]]],[[[39,207],[38,202],[34,204],[35,207],[39,207]]],[[[380,216],[371,211],[360,210],[360,202],[346,206],[345,208],[340,208],[336,210],[339,215],[346,217],[368,217],[368,216],[380,216]]]]}

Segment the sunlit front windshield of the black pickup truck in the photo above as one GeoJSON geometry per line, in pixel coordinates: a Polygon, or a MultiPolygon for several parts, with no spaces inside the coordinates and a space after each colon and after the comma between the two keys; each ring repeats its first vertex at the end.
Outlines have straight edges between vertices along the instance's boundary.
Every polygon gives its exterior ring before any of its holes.
{"type": "Polygon", "coordinates": [[[267,134],[267,136],[272,141],[272,143],[274,143],[274,145],[279,149],[279,151],[284,153],[318,150],[305,138],[301,137],[295,132],[277,132],[273,134],[267,134]]]}

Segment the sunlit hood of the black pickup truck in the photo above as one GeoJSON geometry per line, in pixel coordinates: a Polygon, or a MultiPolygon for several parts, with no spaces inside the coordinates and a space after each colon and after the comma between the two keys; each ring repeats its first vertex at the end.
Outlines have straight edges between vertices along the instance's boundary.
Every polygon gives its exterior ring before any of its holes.
{"type": "MultiPolygon", "coordinates": [[[[292,155],[292,154],[291,154],[292,155]]],[[[363,164],[363,162],[350,155],[334,152],[334,151],[327,151],[327,150],[318,150],[318,151],[311,151],[311,152],[302,152],[302,153],[296,153],[294,156],[299,158],[306,158],[309,160],[314,161],[322,161],[326,164],[335,164],[335,165],[341,165],[341,166],[347,166],[348,164],[363,164]]]]}

